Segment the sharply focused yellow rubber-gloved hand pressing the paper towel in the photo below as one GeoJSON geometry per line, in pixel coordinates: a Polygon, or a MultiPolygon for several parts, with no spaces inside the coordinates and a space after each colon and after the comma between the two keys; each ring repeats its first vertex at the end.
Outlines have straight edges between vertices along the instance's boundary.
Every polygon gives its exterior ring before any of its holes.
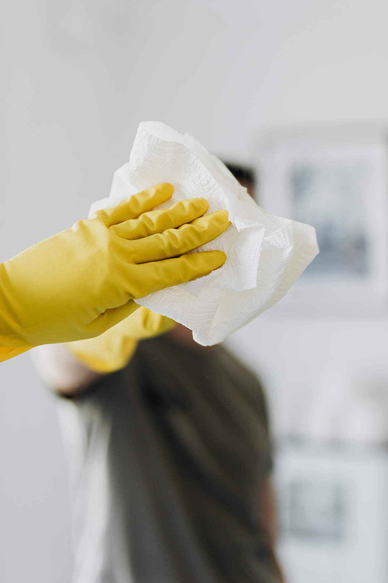
{"type": "Polygon", "coordinates": [[[225,231],[227,212],[202,216],[202,198],[148,212],[172,192],[149,188],[0,264],[0,345],[98,336],[136,310],[134,299],[222,266],[222,251],[185,254],[225,231]]]}

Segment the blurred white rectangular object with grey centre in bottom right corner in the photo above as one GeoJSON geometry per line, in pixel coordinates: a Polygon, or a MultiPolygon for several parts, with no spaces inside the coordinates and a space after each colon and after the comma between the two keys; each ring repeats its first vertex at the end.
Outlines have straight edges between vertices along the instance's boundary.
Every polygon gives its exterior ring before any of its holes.
{"type": "Polygon", "coordinates": [[[284,443],[276,455],[287,583],[388,580],[388,451],[284,443]]]}

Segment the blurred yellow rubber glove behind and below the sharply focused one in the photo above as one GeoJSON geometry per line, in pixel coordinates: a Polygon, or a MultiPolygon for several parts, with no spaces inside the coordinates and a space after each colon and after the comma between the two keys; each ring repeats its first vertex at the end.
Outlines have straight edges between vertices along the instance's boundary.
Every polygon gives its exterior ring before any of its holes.
{"type": "Polygon", "coordinates": [[[88,368],[97,373],[113,373],[129,363],[138,340],[163,334],[175,325],[174,320],[141,306],[100,336],[67,342],[65,346],[88,368]]]}

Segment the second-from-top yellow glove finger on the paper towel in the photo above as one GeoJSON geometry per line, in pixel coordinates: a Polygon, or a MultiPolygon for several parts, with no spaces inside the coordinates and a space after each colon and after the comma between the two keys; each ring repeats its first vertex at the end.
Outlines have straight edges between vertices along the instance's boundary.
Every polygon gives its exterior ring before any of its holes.
{"type": "Polygon", "coordinates": [[[191,223],[207,212],[209,203],[205,198],[179,201],[169,209],[151,210],[138,219],[130,219],[115,224],[111,230],[123,239],[136,240],[163,233],[167,229],[177,229],[184,223],[191,223]]]}

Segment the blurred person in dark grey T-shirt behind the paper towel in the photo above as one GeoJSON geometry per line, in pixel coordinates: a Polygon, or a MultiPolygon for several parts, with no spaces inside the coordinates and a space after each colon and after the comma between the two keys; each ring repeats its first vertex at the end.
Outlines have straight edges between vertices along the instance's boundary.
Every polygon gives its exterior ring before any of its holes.
{"type": "Polygon", "coordinates": [[[34,361],[62,395],[73,583],[282,581],[264,394],[225,349],[140,308],[34,361]]]}

